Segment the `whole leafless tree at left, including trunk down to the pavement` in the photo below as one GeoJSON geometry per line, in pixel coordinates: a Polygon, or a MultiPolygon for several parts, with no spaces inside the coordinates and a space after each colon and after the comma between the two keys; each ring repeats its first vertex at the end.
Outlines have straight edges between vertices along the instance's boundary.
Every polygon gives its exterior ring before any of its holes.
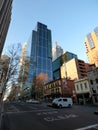
{"type": "Polygon", "coordinates": [[[6,60],[3,62],[4,67],[2,71],[5,73],[1,77],[1,85],[2,85],[1,119],[0,119],[1,122],[2,122],[2,116],[4,115],[3,99],[6,88],[11,87],[12,84],[15,84],[17,82],[17,77],[19,74],[20,51],[21,51],[21,44],[20,43],[13,44],[6,52],[7,56],[9,57],[8,64],[6,63],[6,60]]]}

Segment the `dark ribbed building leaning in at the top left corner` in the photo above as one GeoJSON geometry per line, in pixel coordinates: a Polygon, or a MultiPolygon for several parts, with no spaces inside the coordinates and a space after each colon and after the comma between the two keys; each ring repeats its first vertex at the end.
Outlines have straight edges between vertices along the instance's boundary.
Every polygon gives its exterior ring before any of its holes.
{"type": "Polygon", "coordinates": [[[0,0],[0,56],[11,20],[12,0],[0,0]]]}

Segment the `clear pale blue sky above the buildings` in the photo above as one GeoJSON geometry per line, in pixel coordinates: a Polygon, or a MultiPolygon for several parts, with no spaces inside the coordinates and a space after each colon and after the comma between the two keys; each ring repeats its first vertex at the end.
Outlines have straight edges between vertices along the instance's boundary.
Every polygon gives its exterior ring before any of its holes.
{"type": "Polygon", "coordinates": [[[13,0],[3,52],[27,42],[38,21],[51,30],[52,47],[57,42],[64,52],[88,62],[84,40],[98,26],[98,0],[13,0]]]}

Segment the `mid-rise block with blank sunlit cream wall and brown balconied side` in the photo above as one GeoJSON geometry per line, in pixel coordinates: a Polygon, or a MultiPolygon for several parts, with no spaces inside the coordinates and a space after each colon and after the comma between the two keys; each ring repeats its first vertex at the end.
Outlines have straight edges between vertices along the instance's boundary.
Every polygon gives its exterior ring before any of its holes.
{"type": "Polygon", "coordinates": [[[87,76],[90,65],[83,60],[73,58],[62,65],[61,78],[68,78],[71,80],[81,79],[87,76]]]}

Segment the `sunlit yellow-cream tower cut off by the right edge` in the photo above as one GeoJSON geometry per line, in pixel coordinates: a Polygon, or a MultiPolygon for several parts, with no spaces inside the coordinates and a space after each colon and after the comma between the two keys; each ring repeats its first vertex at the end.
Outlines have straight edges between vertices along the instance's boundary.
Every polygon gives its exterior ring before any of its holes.
{"type": "Polygon", "coordinates": [[[90,64],[98,67],[98,27],[85,38],[86,54],[90,64]]]}

